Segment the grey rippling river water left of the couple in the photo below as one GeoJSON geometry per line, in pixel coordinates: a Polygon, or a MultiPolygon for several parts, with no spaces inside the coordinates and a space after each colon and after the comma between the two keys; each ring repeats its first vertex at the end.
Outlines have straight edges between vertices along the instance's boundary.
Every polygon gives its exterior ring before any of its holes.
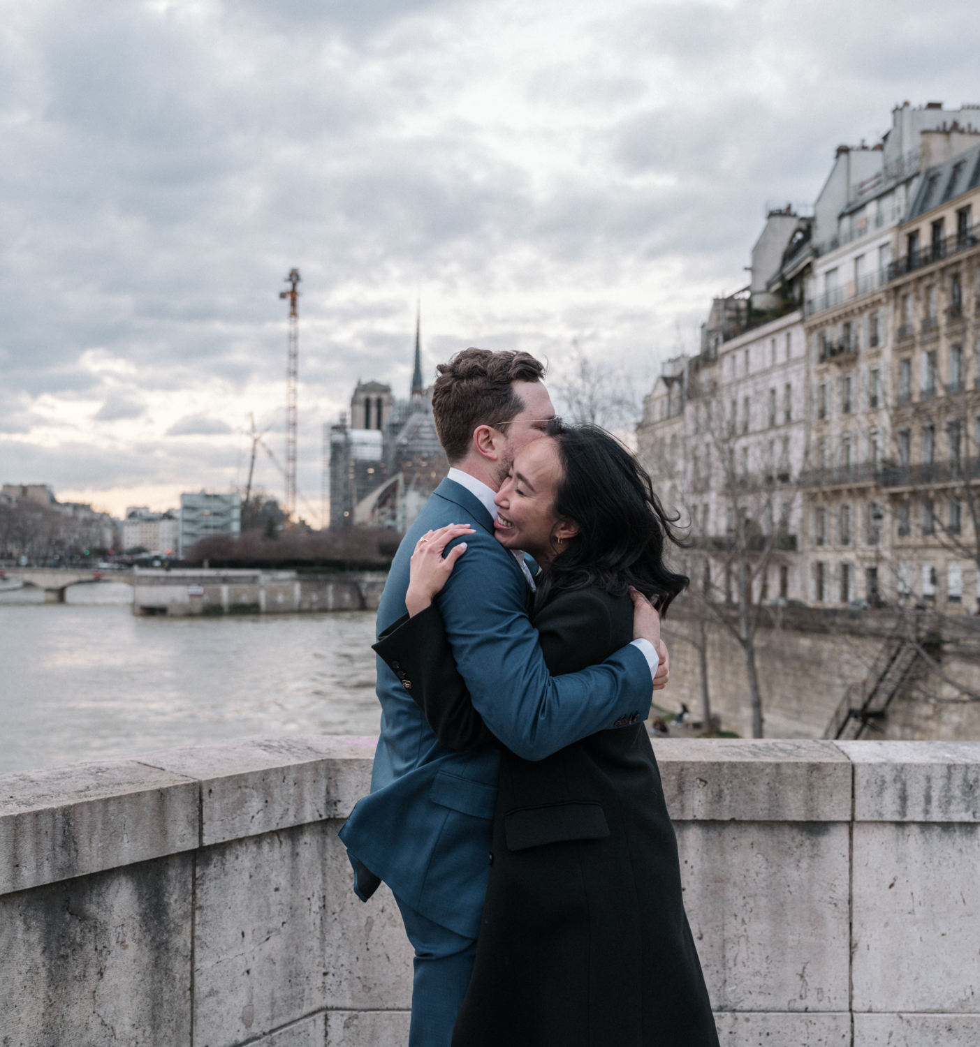
{"type": "Polygon", "coordinates": [[[373,611],[135,618],[131,593],[0,593],[0,773],[243,735],[377,734],[373,611]]]}

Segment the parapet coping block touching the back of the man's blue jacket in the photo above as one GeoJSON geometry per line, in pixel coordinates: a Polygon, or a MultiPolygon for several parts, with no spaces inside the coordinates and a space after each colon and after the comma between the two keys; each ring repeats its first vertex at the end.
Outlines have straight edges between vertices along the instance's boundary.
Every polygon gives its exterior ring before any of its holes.
{"type": "Polygon", "coordinates": [[[201,783],[204,846],[346,817],[370,789],[375,739],[242,738],[165,750],[147,763],[201,783]]]}

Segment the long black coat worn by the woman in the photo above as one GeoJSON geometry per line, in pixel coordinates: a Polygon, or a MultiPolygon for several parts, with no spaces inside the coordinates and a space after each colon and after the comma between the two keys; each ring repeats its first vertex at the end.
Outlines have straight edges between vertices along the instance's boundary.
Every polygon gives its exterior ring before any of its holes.
{"type": "MultiPolygon", "coordinates": [[[[561,593],[532,622],[552,675],[632,638],[628,596],[561,593]]],[[[496,743],[435,604],[375,645],[439,740],[496,743]]],[[[453,1047],[718,1047],[684,912],[674,828],[643,723],[539,761],[501,752],[476,963],[453,1047]]]]}

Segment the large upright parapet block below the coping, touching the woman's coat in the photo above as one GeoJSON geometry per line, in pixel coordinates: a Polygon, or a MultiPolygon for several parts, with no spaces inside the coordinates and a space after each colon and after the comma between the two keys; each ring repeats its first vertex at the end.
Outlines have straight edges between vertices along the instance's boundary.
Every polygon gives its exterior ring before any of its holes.
{"type": "Polygon", "coordinates": [[[684,905],[713,1006],[847,1010],[848,825],[675,828],[684,905]]]}

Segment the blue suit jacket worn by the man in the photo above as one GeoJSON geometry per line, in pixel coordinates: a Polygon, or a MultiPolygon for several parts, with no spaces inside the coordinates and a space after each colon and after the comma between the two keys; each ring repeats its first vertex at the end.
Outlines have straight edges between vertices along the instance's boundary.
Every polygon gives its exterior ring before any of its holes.
{"type": "MultiPolygon", "coordinates": [[[[518,756],[540,760],[623,717],[646,718],[650,666],[627,646],[602,665],[548,675],[525,609],[526,582],[470,491],[443,480],[406,534],[377,611],[380,633],[406,614],[409,560],[430,529],[470,524],[466,552],[436,598],[459,672],[491,731],[518,756]]],[[[491,743],[457,753],[440,744],[392,670],[377,660],[382,732],[371,793],[341,839],[416,911],[475,938],[486,882],[500,767],[491,743]]]]}

